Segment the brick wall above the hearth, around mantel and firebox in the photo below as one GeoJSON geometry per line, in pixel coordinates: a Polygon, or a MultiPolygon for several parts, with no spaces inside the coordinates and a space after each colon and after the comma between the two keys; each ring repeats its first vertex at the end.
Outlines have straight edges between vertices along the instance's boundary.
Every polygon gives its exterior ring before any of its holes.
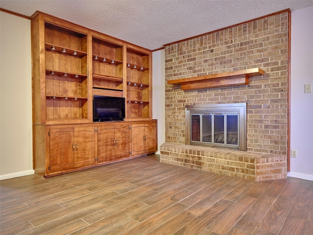
{"type": "Polygon", "coordinates": [[[287,155],[288,13],[165,47],[167,80],[261,68],[249,84],[182,91],[165,87],[166,142],[185,143],[185,105],[247,103],[247,151],[287,155]]]}

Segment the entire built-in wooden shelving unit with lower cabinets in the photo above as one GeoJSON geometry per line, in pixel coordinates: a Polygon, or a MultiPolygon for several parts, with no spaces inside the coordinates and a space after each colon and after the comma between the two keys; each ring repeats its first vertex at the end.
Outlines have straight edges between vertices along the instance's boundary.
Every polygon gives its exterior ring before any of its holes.
{"type": "Polygon", "coordinates": [[[42,12],[31,17],[31,37],[36,174],[50,177],[156,152],[151,50],[42,12]],[[125,100],[124,110],[114,103],[99,107],[103,118],[118,113],[123,121],[94,119],[96,95],[125,98],[117,99],[125,100]]]}

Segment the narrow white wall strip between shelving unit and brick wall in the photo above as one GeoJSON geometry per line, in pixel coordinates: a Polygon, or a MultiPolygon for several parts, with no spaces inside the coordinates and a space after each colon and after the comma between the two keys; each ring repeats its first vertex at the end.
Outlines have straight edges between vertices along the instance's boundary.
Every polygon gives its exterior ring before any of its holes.
{"type": "Polygon", "coordinates": [[[152,113],[157,119],[157,152],[160,154],[160,145],[165,142],[165,50],[157,50],[152,54],[152,113]]]}

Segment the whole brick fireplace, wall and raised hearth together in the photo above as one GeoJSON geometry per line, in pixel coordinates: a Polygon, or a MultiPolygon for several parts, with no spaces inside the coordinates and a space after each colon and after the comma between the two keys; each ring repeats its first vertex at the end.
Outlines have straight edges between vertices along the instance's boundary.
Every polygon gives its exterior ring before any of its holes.
{"type": "Polygon", "coordinates": [[[166,82],[261,68],[247,85],[183,91],[165,87],[160,162],[262,181],[287,176],[288,12],[166,45],[166,82]],[[186,145],[185,107],[246,103],[246,151],[186,145]]]}

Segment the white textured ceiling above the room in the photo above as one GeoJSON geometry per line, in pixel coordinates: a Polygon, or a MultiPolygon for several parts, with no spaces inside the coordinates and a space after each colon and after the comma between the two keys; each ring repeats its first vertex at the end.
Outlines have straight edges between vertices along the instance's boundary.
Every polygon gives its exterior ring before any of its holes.
{"type": "Polygon", "coordinates": [[[148,49],[214,31],[313,0],[0,0],[31,16],[36,10],[148,49]]]}

